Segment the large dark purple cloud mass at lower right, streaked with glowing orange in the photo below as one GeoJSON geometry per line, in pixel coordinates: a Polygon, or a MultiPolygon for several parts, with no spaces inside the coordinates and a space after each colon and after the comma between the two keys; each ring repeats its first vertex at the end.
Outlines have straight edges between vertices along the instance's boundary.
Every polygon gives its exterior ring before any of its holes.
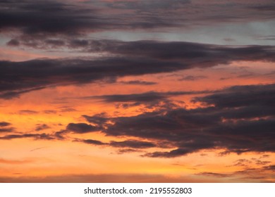
{"type": "MultiPolygon", "coordinates": [[[[194,98],[194,101],[204,102],[204,108],[102,117],[97,124],[102,125],[102,132],[107,135],[165,140],[171,147],[177,147],[143,155],[149,157],[172,158],[209,148],[226,148],[228,153],[274,152],[274,95],[274,84],[229,87],[194,98]],[[108,120],[113,123],[109,124],[108,120]]],[[[88,122],[97,118],[83,117],[88,122]]]]}

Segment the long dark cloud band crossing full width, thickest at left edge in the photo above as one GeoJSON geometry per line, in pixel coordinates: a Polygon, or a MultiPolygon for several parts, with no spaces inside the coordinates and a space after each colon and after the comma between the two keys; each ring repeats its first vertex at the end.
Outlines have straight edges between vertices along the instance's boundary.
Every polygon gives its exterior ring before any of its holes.
{"type": "MultiPolygon", "coordinates": [[[[100,41],[99,41],[100,42],[100,41]]],[[[102,51],[121,56],[96,59],[0,61],[0,98],[44,87],[85,84],[116,77],[208,68],[231,61],[275,61],[273,46],[216,46],[188,42],[104,42],[102,51]]],[[[98,51],[98,49],[94,49],[98,51]]]]}

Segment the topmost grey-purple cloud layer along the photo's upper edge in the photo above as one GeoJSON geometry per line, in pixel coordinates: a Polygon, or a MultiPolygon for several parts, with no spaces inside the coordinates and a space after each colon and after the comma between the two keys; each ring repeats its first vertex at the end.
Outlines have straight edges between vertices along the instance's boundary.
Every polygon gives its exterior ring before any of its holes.
{"type": "MultiPolygon", "coordinates": [[[[194,24],[274,18],[274,2],[245,4],[163,1],[1,1],[0,30],[35,36],[75,35],[104,30],[192,27],[194,24]],[[217,17],[219,16],[219,17],[217,17]]],[[[16,44],[17,42],[10,42],[16,44]]]]}

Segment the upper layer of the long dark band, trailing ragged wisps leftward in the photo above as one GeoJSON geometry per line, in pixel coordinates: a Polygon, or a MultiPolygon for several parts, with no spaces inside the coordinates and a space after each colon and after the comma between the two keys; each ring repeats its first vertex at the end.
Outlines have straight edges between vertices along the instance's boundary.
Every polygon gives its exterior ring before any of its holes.
{"type": "MultiPolygon", "coordinates": [[[[22,38],[22,44],[35,48],[49,49],[51,44],[48,40],[22,38]],[[28,44],[26,42],[37,44],[28,44]]],[[[54,41],[53,41],[54,42],[54,41]]],[[[58,41],[55,41],[58,42],[58,41]]],[[[61,42],[61,40],[59,40],[61,42]]],[[[82,52],[109,53],[120,56],[154,58],[157,60],[170,60],[196,66],[209,67],[231,61],[274,61],[274,46],[221,46],[214,44],[199,44],[192,42],[157,42],[152,40],[140,40],[135,42],[123,42],[111,39],[82,39],[78,40],[85,44],[71,44],[75,39],[64,39],[64,44],[56,44],[53,48],[66,46],[68,49],[78,49],[82,52]],[[202,65],[200,65],[202,64],[202,65]]]]}

